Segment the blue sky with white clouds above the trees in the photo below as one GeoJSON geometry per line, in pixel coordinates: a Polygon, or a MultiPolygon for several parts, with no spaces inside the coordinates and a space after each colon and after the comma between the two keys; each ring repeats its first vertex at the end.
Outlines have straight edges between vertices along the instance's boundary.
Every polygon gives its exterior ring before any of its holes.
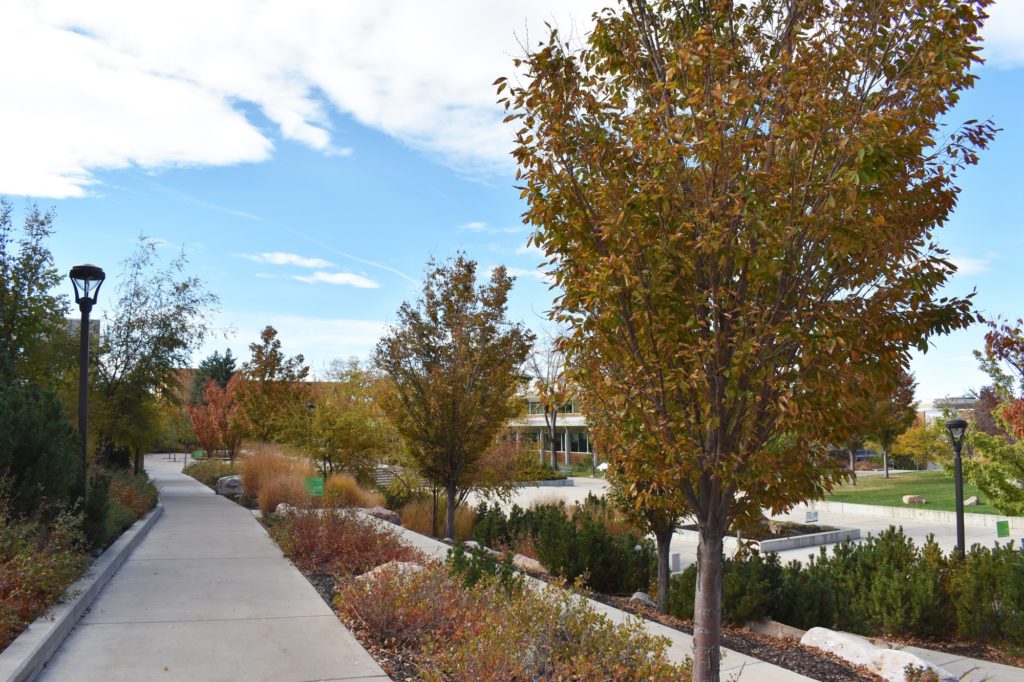
{"type": "MultiPolygon", "coordinates": [[[[0,74],[0,194],[55,207],[58,267],[108,271],[100,316],[143,232],[221,298],[226,338],[202,354],[245,356],[270,324],[314,372],[366,356],[427,259],[460,249],[516,273],[510,315],[546,325],[490,83],[545,20],[579,30],[603,3],[143,4],[15,2],[0,23],[0,58],[19,65],[0,74]]],[[[961,266],[948,290],[1017,317],[1024,3],[992,14],[990,63],[953,120],[1004,130],[938,239],[961,266]]],[[[982,335],[916,356],[919,397],[980,387],[982,335]]]]}

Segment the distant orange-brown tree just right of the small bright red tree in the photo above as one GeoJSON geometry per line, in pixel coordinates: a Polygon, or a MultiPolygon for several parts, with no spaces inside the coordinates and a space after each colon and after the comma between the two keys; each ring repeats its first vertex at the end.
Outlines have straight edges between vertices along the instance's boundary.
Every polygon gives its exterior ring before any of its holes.
{"type": "Polygon", "coordinates": [[[278,330],[267,325],[259,341],[249,344],[250,359],[242,365],[234,399],[247,433],[262,441],[290,441],[305,423],[309,368],[299,353],[288,357],[281,350],[278,330]]]}

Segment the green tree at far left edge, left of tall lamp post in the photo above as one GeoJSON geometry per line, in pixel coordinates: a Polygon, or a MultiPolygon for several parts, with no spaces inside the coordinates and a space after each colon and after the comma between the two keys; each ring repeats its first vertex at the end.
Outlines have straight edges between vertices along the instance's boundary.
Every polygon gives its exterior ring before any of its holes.
{"type": "Polygon", "coordinates": [[[66,331],[68,297],[53,293],[61,284],[46,246],[54,214],[31,206],[15,237],[11,213],[0,197],[0,372],[52,387],[74,363],[77,339],[66,331]]]}

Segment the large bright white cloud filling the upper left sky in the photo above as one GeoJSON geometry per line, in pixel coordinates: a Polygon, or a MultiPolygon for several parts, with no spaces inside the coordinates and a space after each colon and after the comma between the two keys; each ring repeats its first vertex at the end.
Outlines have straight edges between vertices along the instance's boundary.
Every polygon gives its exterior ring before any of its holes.
{"type": "Polygon", "coordinates": [[[505,172],[492,82],[511,75],[515,34],[568,32],[600,4],[4,3],[0,193],[80,197],[103,169],[263,161],[269,131],[246,106],[324,154],[351,153],[341,113],[462,172],[505,172]]]}

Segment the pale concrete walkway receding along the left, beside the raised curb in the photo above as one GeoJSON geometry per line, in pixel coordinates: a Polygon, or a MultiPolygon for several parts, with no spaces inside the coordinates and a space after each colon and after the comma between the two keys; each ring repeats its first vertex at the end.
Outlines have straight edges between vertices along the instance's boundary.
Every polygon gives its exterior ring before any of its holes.
{"type": "Polygon", "coordinates": [[[145,466],[164,515],[39,679],[389,679],[248,510],[145,466]]]}

